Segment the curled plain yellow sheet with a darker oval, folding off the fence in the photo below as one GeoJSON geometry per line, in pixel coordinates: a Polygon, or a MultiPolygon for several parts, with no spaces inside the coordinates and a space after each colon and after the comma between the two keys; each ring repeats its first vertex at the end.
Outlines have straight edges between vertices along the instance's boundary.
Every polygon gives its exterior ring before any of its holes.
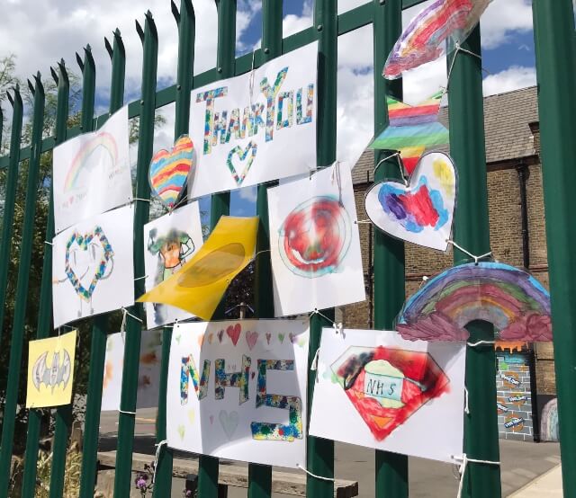
{"type": "Polygon", "coordinates": [[[254,257],[258,218],[220,218],[182,268],[138,299],[179,307],[210,320],[230,281],[254,257]]]}

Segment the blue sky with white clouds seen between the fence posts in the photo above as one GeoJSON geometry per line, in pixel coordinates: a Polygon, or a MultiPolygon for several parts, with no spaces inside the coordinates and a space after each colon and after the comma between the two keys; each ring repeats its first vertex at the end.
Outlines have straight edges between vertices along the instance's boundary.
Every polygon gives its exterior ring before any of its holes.
{"type": "MultiPolygon", "coordinates": [[[[154,14],[159,38],[158,88],[174,83],[177,58],[177,32],[167,0],[4,0],[0,17],[0,57],[14,53],[18,73],[26,78],[40,70],[49,75],[49,66],[60,58],[78,73],[75,52],[86,43],[93,48],[96,62],[96,108],[108,105],[110,60],[103,37],[111,38],[118,27],[126,46],[127,101],[139,95],[141,45],[134,19],[143,22],[148,9],[154,14]]],[[[178,4],[178,2],[176,2],[178,4]]],[[[365,0],[338,0],[338,13],[365,0]]],[[[403,23],[430,3],[403,13],[403,23]]],[[[193,0],[196,13],[194,72],[215,66],[217,16],[213,0],[193,0]]],[[[311,25],[312,0],[284,0],[284,37],[311,25]]],[[[237,53],[254,49],[261,37],[261,2],[238,0],[237,53]]],[[[489,72],[484,93],[501,93],[536,83],[532,13],[529,0],[493,0],[482,16],[482,65],[489,72]]],[[[365,27],[338,40],[338,152],[339,160],[354,162],[372,136],[373,122],[372,28],[365,27]]],[[[384,61],[379,63],[382,70],[384,61]]],[[[410,71],[404,77],[404,97],[415,103],[446,85],[446,60],[410,71]]],[[[9,109],[4,116],[9,117],[9,109]]],[[[169,147],[173,139],[174,106],[160,111],[166,127],[158,129],[155,150],[169,147]]],[[[135,157],[135,156],[134,156],[135,157]]],[[[254,209],[254,190],[232,193],[232,214],[249,215],[254,209]]],[[[202,209],[207,208],[202,200],[202,209]]]]}

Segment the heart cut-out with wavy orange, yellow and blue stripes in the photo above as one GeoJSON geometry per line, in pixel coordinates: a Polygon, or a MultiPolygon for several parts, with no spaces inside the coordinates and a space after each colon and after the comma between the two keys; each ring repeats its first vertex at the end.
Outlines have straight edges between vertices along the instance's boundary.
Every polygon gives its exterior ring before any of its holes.
{"type": "Polygon", "coordinates": [[[183,135],[171,151],[159,150],[150,161],[150,188],[169,209],[174,207],[192,171],[193,148],[192,139],[183,135]]]}

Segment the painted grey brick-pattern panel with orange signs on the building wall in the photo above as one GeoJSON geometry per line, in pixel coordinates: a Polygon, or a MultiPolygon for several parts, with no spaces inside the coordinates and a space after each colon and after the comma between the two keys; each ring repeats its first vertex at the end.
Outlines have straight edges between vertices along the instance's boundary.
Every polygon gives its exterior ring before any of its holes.
{"type": "Polygon", "coordinates": [[[497,352],[498,427],[501,439],[533,440],[528,355],[497,352]]]}

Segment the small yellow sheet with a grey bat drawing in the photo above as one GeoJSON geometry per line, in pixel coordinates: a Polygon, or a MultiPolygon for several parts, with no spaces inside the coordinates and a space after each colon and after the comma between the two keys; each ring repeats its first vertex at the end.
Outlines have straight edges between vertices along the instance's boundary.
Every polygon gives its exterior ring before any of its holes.
{"type": "Polygon", "coordinates": [[[75,354],[76,330],[29,342],[26,408],[71,403],[75,354]]]}

